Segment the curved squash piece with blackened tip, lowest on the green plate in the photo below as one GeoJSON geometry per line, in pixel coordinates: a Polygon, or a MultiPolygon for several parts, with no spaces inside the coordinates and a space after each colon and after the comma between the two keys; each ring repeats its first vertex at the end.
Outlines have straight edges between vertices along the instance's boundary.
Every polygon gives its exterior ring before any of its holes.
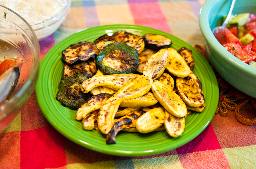
{"type": "Polygon", "coordinates": [[[141,108],[136,111],[133,111],[132,113],[123,116],[119,118],[113,125],[112,129],[109,131],[106,137],[106,143],[107,144],[116,144],[116,135],[119,131],[123,130],[124,128],[135,128],[136,120],[149,111],[149,108],[141,108]]]}

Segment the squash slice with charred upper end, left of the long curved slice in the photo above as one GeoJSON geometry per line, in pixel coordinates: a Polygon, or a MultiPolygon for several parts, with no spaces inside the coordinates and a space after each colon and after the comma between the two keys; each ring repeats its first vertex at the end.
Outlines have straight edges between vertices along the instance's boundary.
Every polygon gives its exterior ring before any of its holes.
{"type": "Polygon", "coordinates": [[[76,120],[82,120],[85,116],[94,110],[99,110],[101,106],[114,94],[101,93],[87,99],[77,110],[76,120]]]}

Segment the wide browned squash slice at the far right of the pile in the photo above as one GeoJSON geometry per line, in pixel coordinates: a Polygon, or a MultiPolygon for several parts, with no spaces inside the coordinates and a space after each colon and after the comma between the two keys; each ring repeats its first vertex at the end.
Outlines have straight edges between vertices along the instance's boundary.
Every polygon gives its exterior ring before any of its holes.
{"type": "Polygon", "coordinates": [[[188,77],[177,78],[176,87],[183,102],[191,107],[200,107],[204,104],[202,83],[192,72],[188,77]]]}

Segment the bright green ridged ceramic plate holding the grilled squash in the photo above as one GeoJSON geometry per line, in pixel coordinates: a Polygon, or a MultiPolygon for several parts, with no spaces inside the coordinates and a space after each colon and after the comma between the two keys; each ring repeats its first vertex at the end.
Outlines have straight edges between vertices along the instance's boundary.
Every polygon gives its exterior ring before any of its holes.
{"type": "Polygon", "coordinates": [[[105,25],[77,32],[58,44],[44,56],[40,64],[39,78],[36,84],[36,99],[46,119],[62,135],[88,149],[118,156],[146,156],[158,154],[180,147],[198,136],[210,123],[217,109],[219,88],[212,68],[204,57],[192,46],[166,32],[136,25],[105,25]],[[172,40],[176,50],[185,46],[191,49],[195,60],[194,73],[202,82],[206,106],[201,113],[192,112],[186,118],[185,131],[180,137],[172,138],[165,130],[148,134],[128,133],[120,131],[116,136],[116,144],[107,145],[106,137],[99,131],[83,130],[82,123],[75,120],[76,111],[61,106],[55,99],[58,83],[64,63],[60,59],[61,51],[70,44],[79,41],[93,42],[98,37],[119,30],[126,30],[137,35],[155,33],[164,35],[172,40]]]}

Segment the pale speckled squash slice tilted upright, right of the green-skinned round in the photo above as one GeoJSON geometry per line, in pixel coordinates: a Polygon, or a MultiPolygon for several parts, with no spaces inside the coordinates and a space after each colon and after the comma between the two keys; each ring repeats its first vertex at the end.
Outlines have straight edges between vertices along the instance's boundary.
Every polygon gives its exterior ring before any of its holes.
{"type": "Polygon", "coordinates": [[[167,60],[167,49],[161,49],[157,53],[153,54],[151,58],[148,59],[143,68],[143,74],[153,80],[157,79],[164,73],[164,70],[167,65],[167,60]]]}

